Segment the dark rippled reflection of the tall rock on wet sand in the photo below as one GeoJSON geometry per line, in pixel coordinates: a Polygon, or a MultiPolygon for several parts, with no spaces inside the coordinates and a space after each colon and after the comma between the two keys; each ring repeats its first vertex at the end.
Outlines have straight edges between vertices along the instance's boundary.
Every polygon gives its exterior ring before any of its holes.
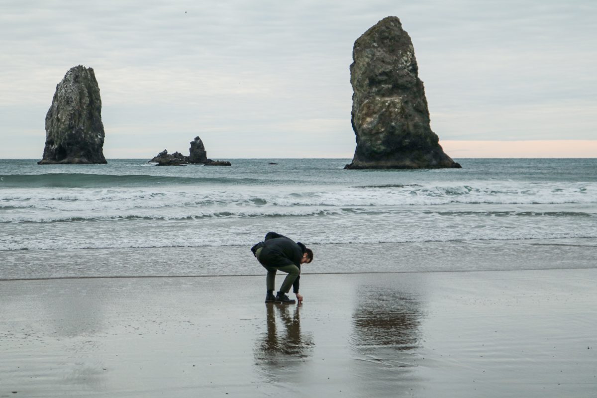
{"type": "MultiPolygon", "coordinates": [[[[361,387],[371,396],[384,395],[401,384],[412,386],[413,369],[421,357],[420,303],[395,289],[362,286],[352,316],[352,347],[356,351],[361,387]]],[[[410,391],[412,392],[412,391],[410,391]]]]}

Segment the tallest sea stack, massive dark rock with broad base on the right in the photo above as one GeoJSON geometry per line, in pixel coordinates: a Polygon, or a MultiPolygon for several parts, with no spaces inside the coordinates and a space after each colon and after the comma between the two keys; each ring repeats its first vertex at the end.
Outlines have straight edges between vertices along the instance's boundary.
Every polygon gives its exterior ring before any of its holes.
{"type": "Polygon", "coordinates": [[[350,65],[356,150],[347,169],[460,168],[431,131],[413,43],[397,17],[356,39],[350,65]]]}

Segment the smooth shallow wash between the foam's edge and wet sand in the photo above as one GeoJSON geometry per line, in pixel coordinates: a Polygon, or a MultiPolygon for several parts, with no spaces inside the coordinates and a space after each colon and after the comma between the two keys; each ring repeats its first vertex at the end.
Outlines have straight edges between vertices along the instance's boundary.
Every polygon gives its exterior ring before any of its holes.
{"type": "MultiPolygon", "coordinates": [[[[304,274],[592,269],[597,266],[597,245],[593,239],[310,246],[315,251],[315,261],[303,268],[304,274]]],[[[0,251],[0,280],[259,275],[263,270],[248,247],[0,251]]]]}

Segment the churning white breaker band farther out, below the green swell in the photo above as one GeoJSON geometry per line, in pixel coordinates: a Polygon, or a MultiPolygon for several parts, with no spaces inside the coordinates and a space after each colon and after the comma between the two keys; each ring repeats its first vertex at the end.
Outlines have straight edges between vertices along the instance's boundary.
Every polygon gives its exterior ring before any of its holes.
{"type": "MultiPolygon", "coordinates": [[[[597,184],[347,187],[294,192],[249,189],[16,189],[0,191],[0,223],[127,218],[271,217],[392,212],[402,206],[597,204],[597,184]]],[[[597,206],[595,206],[597,208],[597,206]]]]}

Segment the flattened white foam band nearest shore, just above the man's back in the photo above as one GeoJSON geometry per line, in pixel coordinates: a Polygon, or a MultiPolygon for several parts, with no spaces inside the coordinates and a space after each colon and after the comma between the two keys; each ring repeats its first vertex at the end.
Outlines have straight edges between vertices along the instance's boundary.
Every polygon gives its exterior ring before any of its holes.
{"type": "Polygon", "coordinates": [[[297,239],[304,239],[302,235],[310,244],[597,237],[595,215],[568,210],[507,211],[500,206],[494,211],[485,208],[474,212],[457,205],[442,212],[407,208],[407,211],[376,214],[352,212],[307,217],[79,220],[55,223],[51,229],[40,228],[36,223],[12,223],[3,226],[5,235],[0,236],[0,250],[250,246],[272,229],[290,232],[297,239]]]}

